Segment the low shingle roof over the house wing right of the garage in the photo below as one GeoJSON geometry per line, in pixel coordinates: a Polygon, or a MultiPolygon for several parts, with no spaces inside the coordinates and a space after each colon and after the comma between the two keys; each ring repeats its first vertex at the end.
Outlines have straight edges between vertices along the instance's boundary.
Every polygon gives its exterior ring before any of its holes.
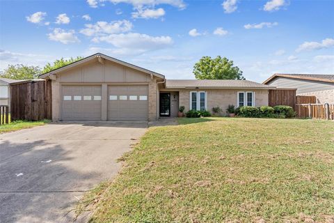
{"type": "Polygon", "coordinates": [[[236,79],[166,79],[166,88],[273,89],[273,86],[236,79]]]}

